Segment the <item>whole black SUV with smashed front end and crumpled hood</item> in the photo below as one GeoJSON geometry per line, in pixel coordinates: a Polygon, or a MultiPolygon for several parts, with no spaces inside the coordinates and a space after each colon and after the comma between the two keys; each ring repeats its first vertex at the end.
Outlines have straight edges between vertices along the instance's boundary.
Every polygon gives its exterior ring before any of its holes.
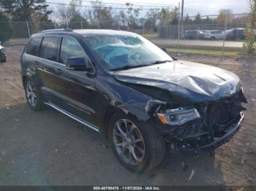
{"type": "Polygon", "coordinates": [[[178,61],[138,34],[42,31],[20,61],[31,109],[50,106],[104,133],[131,171],[156,167],[167,149],[213,153],[244,119],[235,74],[178,61]]]}

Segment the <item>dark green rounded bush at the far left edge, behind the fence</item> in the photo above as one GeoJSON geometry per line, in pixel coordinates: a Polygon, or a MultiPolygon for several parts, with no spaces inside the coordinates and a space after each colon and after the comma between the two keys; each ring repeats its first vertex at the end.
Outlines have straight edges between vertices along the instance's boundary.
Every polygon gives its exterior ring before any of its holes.
{"type": "Polygon", "coordinates": [[[0,42],[7,42],[12,38],[13,31],[9,24],[9,18],[0,11],[1,30],[0,30],[0,42]]]}

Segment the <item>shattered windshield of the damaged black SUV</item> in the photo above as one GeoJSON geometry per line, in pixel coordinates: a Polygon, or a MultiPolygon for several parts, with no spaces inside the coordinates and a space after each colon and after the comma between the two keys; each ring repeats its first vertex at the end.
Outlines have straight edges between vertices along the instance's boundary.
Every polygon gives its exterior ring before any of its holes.
{"type": "Polygon", "coordinates": [[[141,36],[89,36],[85,41],[110,70],[173,61],[167,53],[141,36]]]}

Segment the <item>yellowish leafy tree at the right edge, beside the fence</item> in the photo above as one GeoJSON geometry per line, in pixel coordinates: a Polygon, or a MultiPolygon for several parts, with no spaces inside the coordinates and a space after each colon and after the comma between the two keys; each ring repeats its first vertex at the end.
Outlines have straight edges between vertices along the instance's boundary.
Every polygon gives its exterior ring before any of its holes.
{"type": "Polygon", "coordinates": [[[249,24],[246,28],[246,41],[244,49],[248,53],[255,51],[255,23],[256,23],[256,0],[249,0],[249,8],[251,10],[249,24]]]}

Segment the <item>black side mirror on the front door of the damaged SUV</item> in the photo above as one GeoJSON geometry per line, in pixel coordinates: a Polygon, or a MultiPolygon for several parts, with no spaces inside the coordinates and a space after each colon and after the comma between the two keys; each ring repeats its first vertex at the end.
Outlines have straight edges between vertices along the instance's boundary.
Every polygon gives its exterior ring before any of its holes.
{"type": "Polygon", "coordinates": [[[66,68],[75,71],[88,71],[89,67],[85,58],[70,57],[67,59],[66,68]]]}

